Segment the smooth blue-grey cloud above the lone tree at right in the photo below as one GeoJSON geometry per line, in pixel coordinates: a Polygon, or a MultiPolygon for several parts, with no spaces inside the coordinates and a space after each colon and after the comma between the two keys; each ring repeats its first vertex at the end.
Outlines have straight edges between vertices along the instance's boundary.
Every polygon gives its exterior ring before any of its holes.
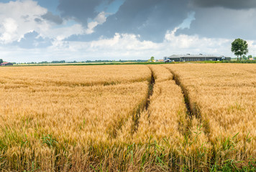
{"type": "Polygon", "coordinates": [[[224,8],[196,9],[190,29],[179,29],[176,34],[198,34],[200,37],[256,39],[255,10],[224,8]]]}

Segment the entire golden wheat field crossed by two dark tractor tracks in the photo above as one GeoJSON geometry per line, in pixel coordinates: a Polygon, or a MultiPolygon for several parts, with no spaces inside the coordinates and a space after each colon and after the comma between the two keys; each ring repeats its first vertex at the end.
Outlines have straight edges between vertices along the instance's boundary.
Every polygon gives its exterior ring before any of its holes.
{"type": "Polygon", "coordinates": [[[256,66],[0,67],[1,171],[254,171],[256,66]]]}

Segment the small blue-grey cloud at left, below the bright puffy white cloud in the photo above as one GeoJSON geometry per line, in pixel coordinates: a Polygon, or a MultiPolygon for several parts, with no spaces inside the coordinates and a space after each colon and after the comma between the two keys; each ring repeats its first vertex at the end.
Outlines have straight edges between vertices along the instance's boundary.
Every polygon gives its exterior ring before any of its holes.
{"type": "Polygon", "coordinates": [[[37,32],[29,32],[19,42],[12,43],[24,49],[46,48],[52,45],[51,39],[38,37],[37,32]]]}

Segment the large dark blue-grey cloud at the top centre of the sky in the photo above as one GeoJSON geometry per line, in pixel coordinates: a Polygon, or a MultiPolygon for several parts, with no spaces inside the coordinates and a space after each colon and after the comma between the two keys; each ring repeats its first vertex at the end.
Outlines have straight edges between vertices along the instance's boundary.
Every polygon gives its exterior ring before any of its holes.
{"type": "Polygon", "coordinates": [[[187,0],[127,0],[92,35],[75,35],[72,40],[113,37],[117,32],[140,34],[143,40],[162,42],[166,31],[177,27],[188,16],[187,4],[187,0]]]}

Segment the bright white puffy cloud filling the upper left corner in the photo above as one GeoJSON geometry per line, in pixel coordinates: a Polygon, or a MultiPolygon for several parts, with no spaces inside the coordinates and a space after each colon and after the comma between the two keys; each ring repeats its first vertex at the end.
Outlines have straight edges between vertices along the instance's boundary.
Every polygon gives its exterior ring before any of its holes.
{"type": "Polygon", "coordinates": [[[45,22],[35,22],[35,19],[47,12],[35,1],[0,3],[0,11],[0,42],[4,44],[17,41],[32,30],[40,32],[49,27],[45,22]]]}

